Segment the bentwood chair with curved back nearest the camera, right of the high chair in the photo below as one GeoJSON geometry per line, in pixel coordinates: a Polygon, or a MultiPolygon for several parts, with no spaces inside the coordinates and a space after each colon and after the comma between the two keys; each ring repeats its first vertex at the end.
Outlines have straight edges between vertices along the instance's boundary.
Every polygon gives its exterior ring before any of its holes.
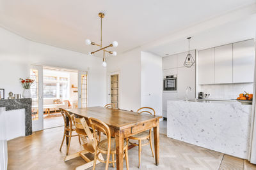
{"type": "MultiPolygon", "coordinates": [[[[93,170],[96,166],[96,161],[99,160],[100,162],[106,163],[105,170],[108,170],[109,163],[113,164],[113,167],[115,168],[115,154],[116,154],[116,142],[115,138],[111,138],[111,133],[109,130],[108,125],[106,125],[104,122],[98,120],[97,118],[89,118],[90,125],[93,129],[93,134],[97,138],[97,131],[95,129],[100,129],[100,131],[104,132],[106,134],[107,139],[104,139],[102,141],[98,141],[97,139],[94,140],[95,142],[95,150],[97,154],[94,155],[94,162],[93,162],[93,170]],[[99,153],[107,154],[106,160],[100,159],[98,156],[99,153]],[[112,160],[110,159],[110,155],[112,155],[112,160]]],[[[124,141],[124,157],[126,162],[126,169],[129,169],[129,160],[128,160],[128,143],[127,141],[124,141]]]]}

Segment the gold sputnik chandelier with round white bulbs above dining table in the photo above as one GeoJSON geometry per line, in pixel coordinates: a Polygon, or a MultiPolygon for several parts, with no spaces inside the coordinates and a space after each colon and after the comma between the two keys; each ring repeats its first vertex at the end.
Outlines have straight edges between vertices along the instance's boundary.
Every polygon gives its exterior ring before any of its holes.
{"type": "Polygon", "coordinates": [[[97,45],[97,46],[100,47],[100,49],[99,49],[99,50],[96,50],[95,52],[89,52],[89,55],[93,55],[93,53],[96,53],[96,52],[99,52],[99,51],[103,50],[103,62],[102,62],[102,66],[103,66],[103,67],[106,67],[106,66],[107,66],[107,63],[106,63],[105,52],[111,53],[112,55],[116,55],[116,54],[117,54],[115,51],[114,51],[114,52],[111,52],[111,51],[106,50],[106,48],[108,48],[108,47],[110,47],[110,46],[116,47],[116,46],[118,46],[118,43],[117,43],[116,41],[113,41],[113,43],[111,43],[110,45],[102,47],[102,18],[105,17],[105,14],[100,12],[100,13],[99,13],[99,17],[100,17],[100,45],[97,44],[97,43],[94,43],[94,42],[90,41],[90,39],[85,39],[85,43],[86,43],[86,45],[97,45]]]}

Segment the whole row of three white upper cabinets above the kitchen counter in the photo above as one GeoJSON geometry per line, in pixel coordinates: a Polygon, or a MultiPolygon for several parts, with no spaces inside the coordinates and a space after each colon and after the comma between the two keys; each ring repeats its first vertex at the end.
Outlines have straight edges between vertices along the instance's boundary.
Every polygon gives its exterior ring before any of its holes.
{"type": "Polygon", "coordinates": [[[254,40],[218,46],[198,52],[198,83],[253,82],[254,40]]]}

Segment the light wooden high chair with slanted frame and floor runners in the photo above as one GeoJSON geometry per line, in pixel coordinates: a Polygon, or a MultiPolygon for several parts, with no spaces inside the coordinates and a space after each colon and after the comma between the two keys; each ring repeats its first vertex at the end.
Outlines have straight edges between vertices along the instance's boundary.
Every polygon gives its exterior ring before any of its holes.
{"type": "Polygon", "coordinates": [[[84,118],[72,117],[72,120],[76,126],[77,134],[79,134],[79,137],[82,139],[84,150],[81,150],[77,153],[73,153],[71,155],[67,155],[65,157],[65,161],[74,159],[76,157],[81,157],[83,160],[85,160],[86,164],[76,167],[76,170],[88,169],[89,167],[93,166],[93,163],[99,164],[99,160],[95,162],[94,160],[90,160],[85,155],[86,153],[92,153],[98,155],[100,159],[104,160],[101,153],[97,154],[97,152],[95,152],[96,147],[94,142],[95,138],[93,137],[93,131],[88,127],[88,124],[86,123],[86,120],[84,118]]]}

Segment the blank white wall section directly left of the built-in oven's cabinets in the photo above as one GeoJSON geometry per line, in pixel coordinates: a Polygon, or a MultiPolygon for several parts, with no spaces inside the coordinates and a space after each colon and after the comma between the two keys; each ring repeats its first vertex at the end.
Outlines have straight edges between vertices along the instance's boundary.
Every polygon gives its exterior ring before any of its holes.
{"type": "Polygon", "coordinates": [[[163,60],[150,52],[141,52],[141,107],[154,108],[163,115],[163,60]]]}

